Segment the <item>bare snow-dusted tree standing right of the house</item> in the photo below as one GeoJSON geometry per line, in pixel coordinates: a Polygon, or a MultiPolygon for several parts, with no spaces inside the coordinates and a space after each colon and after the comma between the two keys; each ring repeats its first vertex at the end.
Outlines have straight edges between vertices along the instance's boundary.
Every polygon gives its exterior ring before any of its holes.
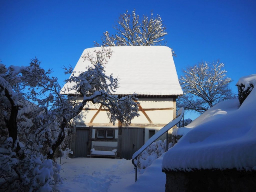
{"type": "Polygon", "coordinates": [[[179,80],[184,95],[178,98],[178,108],[203,113],[220,101],[234,98],[228,86],[231,79],[226,77],[223,67],[219,61],[212,64],[200,62],[183,70],[184,76],[179,80]]]}

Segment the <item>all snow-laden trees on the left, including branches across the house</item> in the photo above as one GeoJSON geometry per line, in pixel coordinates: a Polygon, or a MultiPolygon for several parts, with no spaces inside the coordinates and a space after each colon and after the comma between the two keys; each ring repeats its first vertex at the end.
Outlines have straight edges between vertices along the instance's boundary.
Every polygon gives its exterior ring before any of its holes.
{"type": "Polygon", "coordinates": [[[42,69],[37,58],[29,66],[0,64],[1,190],[56,189],[56,183],[61,182],[60,166],[52,159],[68,140],[66,134],[72,134],[72,120],[88,102],[108,108],[112,123],[127,126],[138,116],[133,95],[114,95],[118,79],[106,75],[104,67],[111,54],[110,48],[102,48],[84,55],[91,62],[87,69],[84,67],[85,72],[65,69],[71,74],[66,82],[72,84],[70,89],[77,90],[72,96],[60,93],[58,79],[50,77],[51,70],[42,69]]]}

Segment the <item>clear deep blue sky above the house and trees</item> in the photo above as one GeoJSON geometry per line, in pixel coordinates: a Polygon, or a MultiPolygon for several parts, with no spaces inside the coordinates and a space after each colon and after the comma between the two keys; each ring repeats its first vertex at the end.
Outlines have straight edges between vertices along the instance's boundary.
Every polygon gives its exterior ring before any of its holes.
{"type": "Polygon", "coordinates": [[[113,32],[119,14],[134,9],[162,17],[178,76],[186,66],[220,59],[237,92],[238,79],[256,73],[255,0],[0,0],[0,60],[28,65],[36,56],[63,84],[62,67],[74,67],[85,48],[113,32]]]}

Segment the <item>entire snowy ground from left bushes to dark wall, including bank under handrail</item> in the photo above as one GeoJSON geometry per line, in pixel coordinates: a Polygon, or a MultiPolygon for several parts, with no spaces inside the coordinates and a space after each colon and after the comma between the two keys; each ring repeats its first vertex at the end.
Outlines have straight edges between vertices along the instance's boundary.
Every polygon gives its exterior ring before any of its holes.
{"type": "MultiPolygon", "coordinates": [[[[166,176],[162,173],[162,158],[155,160],[144,174],[135,170],[131,160],[109,158],[62,159],[60,184],[63,192],[164,192],[166,176]]],[[[59,162],[59,159],[57,159],[59,162]]]]}

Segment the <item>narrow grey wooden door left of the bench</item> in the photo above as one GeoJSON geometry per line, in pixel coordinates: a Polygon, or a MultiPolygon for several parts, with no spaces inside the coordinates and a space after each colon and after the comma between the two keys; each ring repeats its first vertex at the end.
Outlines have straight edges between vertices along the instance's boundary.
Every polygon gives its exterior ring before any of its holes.
{"type": "Polygon", "coordinates": [[[87,157],[89,130],[76,128],[75,157],[87,157]]]}

